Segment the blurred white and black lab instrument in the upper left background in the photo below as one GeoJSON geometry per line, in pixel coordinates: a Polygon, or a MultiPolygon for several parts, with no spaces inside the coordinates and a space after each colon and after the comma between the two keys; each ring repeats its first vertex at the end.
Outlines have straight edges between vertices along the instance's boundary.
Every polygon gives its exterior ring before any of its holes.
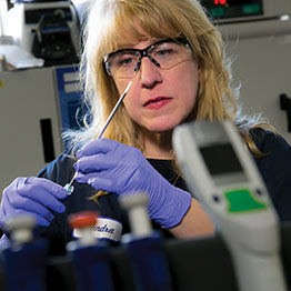
{"type": "Polygon", "coordinates": [[[7,13],[6,34],[44,66],[79,62],[79,18],[71,1],[14,0],[7,13]]]}

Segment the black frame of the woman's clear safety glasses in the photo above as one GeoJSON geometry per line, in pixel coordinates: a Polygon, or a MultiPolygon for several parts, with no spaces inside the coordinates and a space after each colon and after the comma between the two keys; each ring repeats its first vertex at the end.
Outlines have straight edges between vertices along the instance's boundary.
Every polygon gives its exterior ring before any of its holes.
{"type": "Polygon", "coordinates": [[[108,76],[112,77],[112,73],[111,73],[111,70],[108,66],[109,63],[109,60],[111,59],[112,56],[117,54],[117,53],[120,53],[122,51],[132,51],[132,52],[139,52],[140,53],[140,58],[138,60],[138,63],[134,68],[134,72],[137,72],[139,69],[140,69],[140,66],[141,66],[141,59],[144,58],[144,57],[148,57],[150,59],[150,61],[152,63],[154,63],[157,67],[160,67],[160,63],[158,61],[155,61],[151,56],[148,54],[148,51],[153,48],[153,47],[157,47],[159,46],[160,43],[163,43],[163,42],[180,42],[180,43],[183,43],[185,46],[188,46],[190,49],[191,49],[191,46],[188,41],[187,38],[177,38],[177,39],[164,39],[164,40],[159,40],[152,44],[150,44],[149,47],[144,48],[144,49],[120,49],[120,50],[117,50],[117,51],[112,51],[110,53],[108,53],[104,58],[103,58],[103,69],[104,71],[107,72],[108,76]]]}

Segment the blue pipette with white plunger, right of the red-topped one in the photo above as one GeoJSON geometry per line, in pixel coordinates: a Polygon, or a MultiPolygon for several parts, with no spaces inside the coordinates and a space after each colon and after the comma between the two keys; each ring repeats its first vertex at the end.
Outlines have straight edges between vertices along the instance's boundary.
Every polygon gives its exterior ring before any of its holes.
{"type": "Polygon", "coordinates": [[[128,250],[137,290],[172,290],[163,239],[152,231],[146,210],[148,195],[133,193],[120,197],[119,201],[128,211],[131,225],[131,233],[122,237],[122,243],[128,250]]]}

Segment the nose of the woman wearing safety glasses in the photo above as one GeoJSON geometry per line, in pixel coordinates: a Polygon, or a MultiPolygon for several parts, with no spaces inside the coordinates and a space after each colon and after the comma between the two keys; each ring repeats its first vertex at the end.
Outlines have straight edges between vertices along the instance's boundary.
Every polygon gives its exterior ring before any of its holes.
{"type": "Polygon", "coordinates": [[[151,88],[162,82],[161,69],[154,64],[149,58],[142,58],[139,69],[140,82],[147,88],[151,88]]]}

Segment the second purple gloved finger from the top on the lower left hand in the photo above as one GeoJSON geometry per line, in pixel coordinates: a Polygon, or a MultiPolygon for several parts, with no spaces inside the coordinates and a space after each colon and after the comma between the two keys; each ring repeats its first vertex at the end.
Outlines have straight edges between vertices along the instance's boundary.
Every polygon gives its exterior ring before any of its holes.
{"type": "Polygon", "coordinates": [[[19,211],[23,210],[27,211],[29,213],[34,213],[38,215],[43,217],[44,219],[51,221],[54,217],[53,214],[43,205],[41,205],[40,203],[28,199],[28,198],[23,198],[23,197],[18,197],[17,200],[10,199],[10,197],[6,197],[4,198],[8,202],[7,203],[7,213],[13,214],[13,213],[18,213],[19,211]]]}

